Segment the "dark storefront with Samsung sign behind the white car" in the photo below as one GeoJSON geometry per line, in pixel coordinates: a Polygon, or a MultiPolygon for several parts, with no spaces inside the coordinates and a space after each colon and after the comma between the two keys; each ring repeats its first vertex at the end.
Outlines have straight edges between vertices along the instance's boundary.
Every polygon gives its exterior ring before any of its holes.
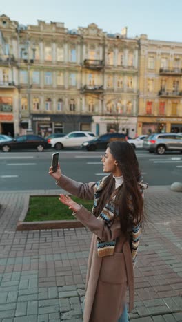
{"type": "Polygon", "coordinates": [[[40,136],[71,131],[90,131],[92,116],[32,114],[32,128],[40,136]]]}

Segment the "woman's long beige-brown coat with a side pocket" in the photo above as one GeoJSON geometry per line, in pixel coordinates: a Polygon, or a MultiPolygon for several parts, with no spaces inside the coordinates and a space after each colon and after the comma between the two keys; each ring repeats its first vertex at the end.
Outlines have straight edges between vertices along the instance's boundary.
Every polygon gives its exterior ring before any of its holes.
{"type": "MultiPolygon", "coordinates": [[[[94,199],[95,182],[82,184],[61,175],[58,186],[82,199],[94,199]]],[[[86,277],[84,322],[117,322],[123,312],[127,286],[130,291],[130,311],[134,303],[134,273],[128,241],[115,220],[110,230],[83,206],[73,214],[92,231],[88,272],[86,277]],[[98,257],[97,237],[101,241],[117,239],[114,255],[98,257]]]]}

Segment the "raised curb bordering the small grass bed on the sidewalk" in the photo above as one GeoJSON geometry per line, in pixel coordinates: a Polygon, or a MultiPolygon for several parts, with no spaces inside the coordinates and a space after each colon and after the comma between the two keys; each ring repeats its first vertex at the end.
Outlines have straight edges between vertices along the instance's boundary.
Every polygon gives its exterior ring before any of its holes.
{"type": "MultiPolygon", "coordinates": [[[[18,231],[23,230],[45,230],[45,229],[64,229],[64,228],[82,228],[84,227],[81,222],[79,222],[77,219],[74,220],[47,220],[42,222],[24,222],[26,218],[26,214],[28,212],[28,206],[30,201],[30,195],[26,195],[24,198],[24,206],[23,210],[21,211],[21,214],[19,216],[19,221],[17,222],[17,228],[18,231]]],[[[39,197],[42,195],[37,195],[39,197]]],[[[50,195],[54,196],[54,195],[50,195]]]]}

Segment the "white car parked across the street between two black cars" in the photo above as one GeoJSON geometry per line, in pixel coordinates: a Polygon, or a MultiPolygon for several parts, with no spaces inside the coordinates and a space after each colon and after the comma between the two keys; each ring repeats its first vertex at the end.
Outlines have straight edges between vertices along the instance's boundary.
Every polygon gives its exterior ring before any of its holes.
{"type": "Polygon", "coordinates": [[[93,140],[95,137],[92,132],[75,131],[70,132],[63,138],[52,138],[48,140],[48,143],[56,150],[61,150],[64,147],[81,147],[81,144],[85,141],[93,140]]]}

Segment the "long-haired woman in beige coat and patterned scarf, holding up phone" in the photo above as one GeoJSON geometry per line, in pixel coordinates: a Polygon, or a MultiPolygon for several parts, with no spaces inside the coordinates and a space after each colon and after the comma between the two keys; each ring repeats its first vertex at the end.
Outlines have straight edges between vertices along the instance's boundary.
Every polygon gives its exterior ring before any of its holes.
{"type": "Polygon", "coordinates": [[[128,142],[108,144],[101,158],[103,172],[99,182],[82,184],[61,174],[50,175],[57,185],[82,199],[94,199],[92,213],[66,195],[60,202],[93,233],[86,278],[84,322],[127,322],[125,304],[129,288],[130,311],[134,304],[136,253],[143,226],[143,189],[134,149],[128,142]]]}

